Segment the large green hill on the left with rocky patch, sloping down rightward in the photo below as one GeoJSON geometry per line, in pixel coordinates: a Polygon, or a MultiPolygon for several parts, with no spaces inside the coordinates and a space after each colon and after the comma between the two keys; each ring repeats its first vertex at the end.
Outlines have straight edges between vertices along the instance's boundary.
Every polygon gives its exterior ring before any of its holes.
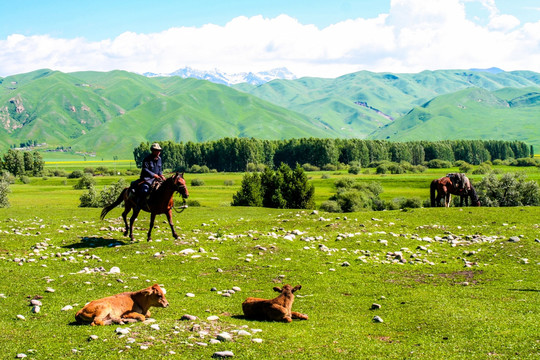
{"type": "Polygon", "coordinates": [[[131,157],[141,141],[338,136],[307,116],[202,80],[40,70],[0,81],[4,149],[34,140],[131,157]]]}

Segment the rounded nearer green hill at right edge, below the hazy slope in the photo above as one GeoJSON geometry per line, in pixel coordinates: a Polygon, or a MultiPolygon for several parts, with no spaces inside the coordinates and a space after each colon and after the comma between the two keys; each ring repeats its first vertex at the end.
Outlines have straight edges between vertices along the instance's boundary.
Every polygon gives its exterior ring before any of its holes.
{"type": "Polygon", "coordinates": [[[468,88],[416,107],[372,134],[396,141],[519,139],[540,148],[540,88],[468,88]]]}

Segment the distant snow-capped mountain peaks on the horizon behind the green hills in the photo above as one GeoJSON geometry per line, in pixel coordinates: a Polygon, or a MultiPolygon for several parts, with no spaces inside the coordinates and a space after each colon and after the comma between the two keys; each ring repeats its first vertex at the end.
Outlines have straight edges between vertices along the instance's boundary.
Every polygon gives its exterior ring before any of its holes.
{"type": "Polygon", "coordinates": [[[155,74],[155,73],[144,73],[144,76],[155,77],[155,76],[180,76],[184,79],[186,78],[195,78],[201,80],[208,80],[216,84],[223,85],[234,85],[240,83],[248,83],[252,85],[261,85],[266,82],[275,80],[275,79],[285,79],[285,80],[294,80],[296,76],[291,73],[286,68],[276,68],[268,71],[261,71],[257,73],[252,72],[242,72],[236,74],[229,74],[221,72],[218,69],[214,70],[197,70],[190,67],[185,67],[178,69],[172,73],[168,74],[155,74]]]}

